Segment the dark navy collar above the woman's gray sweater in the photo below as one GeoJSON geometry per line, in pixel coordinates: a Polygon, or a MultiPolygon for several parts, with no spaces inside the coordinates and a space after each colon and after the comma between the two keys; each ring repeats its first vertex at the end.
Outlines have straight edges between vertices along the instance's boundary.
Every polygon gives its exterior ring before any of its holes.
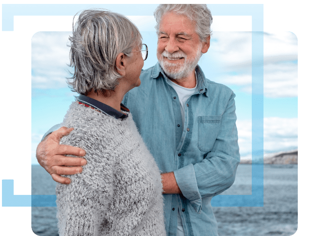
{"type": "Polygon", "coordinates": [[[98,110],[99,112],[106,114],[107,116],[114,117],[116,119],[127,118],[129,114],[129,109],[126,106],[124,106],[122,103],[120,104],[121,112],[119,112],[113,107],[110,107],[102,102],[97,101],[96,99],[85,96],[83,94],[79,94],[79,96],[77,96],[76,99],[78,102],[84,104],[85,106],[89,106],[93,109],[98,110]]]}

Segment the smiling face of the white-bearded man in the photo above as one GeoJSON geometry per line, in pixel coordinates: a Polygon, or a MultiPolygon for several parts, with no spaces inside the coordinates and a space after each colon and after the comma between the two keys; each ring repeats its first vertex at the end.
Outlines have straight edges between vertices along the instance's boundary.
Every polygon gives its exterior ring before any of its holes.
{"type": "Polygon", "coordinates": [[[172,79],[182,79],[194,71],[207,44],[195,32],[195,22],[184,15],[168,12],[160,22],[157,58],[172,79]]]}

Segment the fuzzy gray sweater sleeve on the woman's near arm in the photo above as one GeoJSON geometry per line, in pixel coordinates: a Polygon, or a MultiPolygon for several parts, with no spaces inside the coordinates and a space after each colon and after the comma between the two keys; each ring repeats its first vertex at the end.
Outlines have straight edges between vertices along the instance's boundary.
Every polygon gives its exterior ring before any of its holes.
{"type": "Polygon", "coordinates": [[[112,140],[104,134],[105,124],[87,114],[80,117],[80,108],[75,113],[70,113],[74,109],[68,112],[70,118],[65,124],[74,127],[74,130],[63,137],[60,143],[83,148],[87,164],[83,166],[82,173],[66,176],[71,179],[69,185],[57,185],[60,236],[105,235],[106,232],[102,231],[110,228],[106,224],[111,223],[113,218],[108,213],[112,212],[110,208],[113,206],[111,202],[114,193],[115,157],[108,147],[112,140]]]}

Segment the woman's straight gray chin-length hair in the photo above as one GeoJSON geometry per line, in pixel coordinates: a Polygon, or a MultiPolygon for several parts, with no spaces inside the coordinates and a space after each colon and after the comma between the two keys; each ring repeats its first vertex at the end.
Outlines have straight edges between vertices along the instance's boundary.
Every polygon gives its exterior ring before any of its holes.
{"type": "Polygon", "coordinates": [[[142,45],[139,29],[119,13],[90,9],[80,13],[72,30],[69,47],[74,72],[68,78],[69,87],[78,94],[94,90],[107,95],[121,78],[115,65],[118,54],[129,56],[134,47],[142,45]]]}

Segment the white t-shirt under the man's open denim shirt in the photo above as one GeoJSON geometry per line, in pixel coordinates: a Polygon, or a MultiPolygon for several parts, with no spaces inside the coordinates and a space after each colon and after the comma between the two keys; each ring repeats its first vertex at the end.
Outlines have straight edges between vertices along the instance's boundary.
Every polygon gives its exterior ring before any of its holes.
{"type": "MultiPolygon", "coordinates": [[[[167,80],[168,84],[171,85],[171,87],[176,91],[179,102],[180,102],[180,110],[181,110],[181,115],[183,119],[183,128],[184,128],[184,122],[185,122],[185,103],[187,99],[196,92],[196,87],[198,85],[198,79],[196,78],[196,73],[195,73],[195,79],[196,79],[196,85],[192,89],[184,88],[180,85],[177,85],[176,83],[173,83],[171,80],[167,80]]],[[[184,228],[183,228],[183,223],[182,219],[180,216],[180,212],[178,210],[178,224],[177,224],[177,236],[185,236],[184,234],[184,228]]]]}

